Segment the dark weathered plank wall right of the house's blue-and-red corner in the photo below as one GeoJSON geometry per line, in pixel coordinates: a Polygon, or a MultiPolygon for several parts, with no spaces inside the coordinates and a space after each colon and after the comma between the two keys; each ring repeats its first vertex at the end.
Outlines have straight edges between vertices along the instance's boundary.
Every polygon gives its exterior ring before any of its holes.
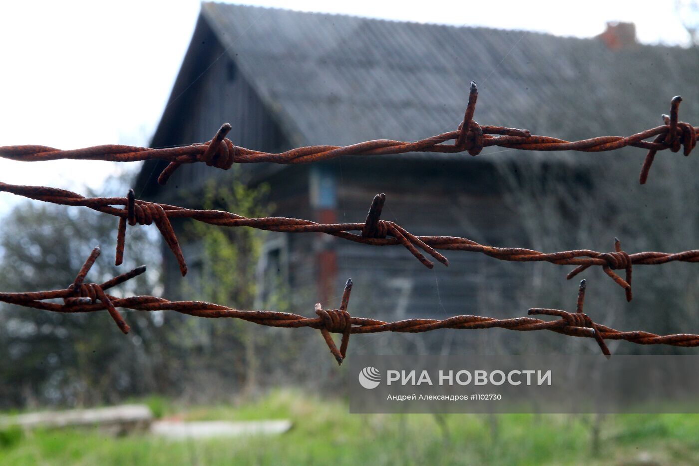
{"type": "MultiPolygon", "coordinates": [[[[514,212],[503,205],[493,187],[491,165],[467,162],[468,167],[426,159],[344,161],[338,221],[363,222],[373,196],[383,192],[387,200],[382,218],[413,234],[465,236],[505,246],[519,243],[514,212]]],[[[338,285],[352,278],[354,297],[360,298],[364,315],[400,319],[477,314],[482,311],[484,291],[500,288],[507,292],[515,284],[507,267],[512,264],[480,254],[441,251],[449,267],[433,260],[435,267],[427,269],[402,246],[333,241],[337,243],[338,285]]]]}

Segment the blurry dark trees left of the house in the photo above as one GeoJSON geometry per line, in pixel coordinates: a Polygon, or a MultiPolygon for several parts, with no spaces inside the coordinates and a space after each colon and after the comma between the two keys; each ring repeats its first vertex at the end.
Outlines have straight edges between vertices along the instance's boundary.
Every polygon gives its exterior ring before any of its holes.
{"type": "MultiPolygon", "coordinates": [[[[111,181],[112,185],[122,185],[111,181]]],[[[125,190],[122,188],[122,190],[125,190]]],[[[142,227],[129,230],[127,254],[114,266],[115,219],[89,209],[38,202],[18,204],[0,234],[0,290],[66,288],[94,246],[103,253],[87,276],[101,283],[140,263],[157,264],[157,247],[142,227]],[[140,262],[140,263],[139,263],[140,262]]],[[[113,294],[150,292],[154,268],[113,294]]],[[[154,388],[150,334],[157,322],[125,314],[131,332],[117,331],[106,313],[62,314],[0,307],[0,404],[95,404],[154,388]]]]}

